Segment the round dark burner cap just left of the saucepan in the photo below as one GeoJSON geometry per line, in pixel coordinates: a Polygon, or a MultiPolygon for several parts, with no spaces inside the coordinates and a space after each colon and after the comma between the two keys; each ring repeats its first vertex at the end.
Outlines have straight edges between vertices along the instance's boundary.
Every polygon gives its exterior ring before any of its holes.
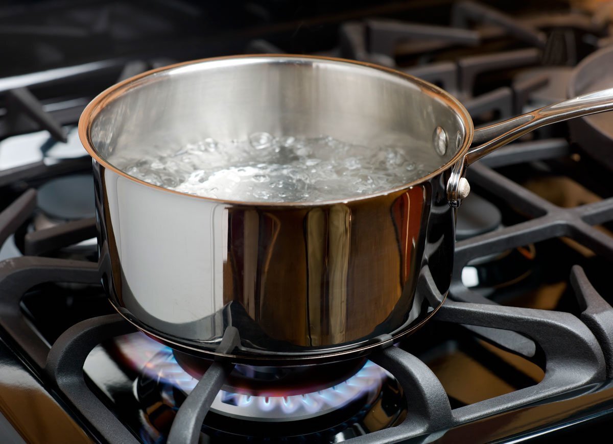
{"type": "Polygon", "coordinates": [[[71,175],[51,179],[38,189],[38,206],[48,217],[77,220],[96,215],[94,179],[71,175]]]}

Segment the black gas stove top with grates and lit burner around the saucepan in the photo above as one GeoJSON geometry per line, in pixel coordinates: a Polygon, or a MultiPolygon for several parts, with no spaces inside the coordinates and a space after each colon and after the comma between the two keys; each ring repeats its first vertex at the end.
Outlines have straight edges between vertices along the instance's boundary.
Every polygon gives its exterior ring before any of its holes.
{"type": "MultiPolygon", "coordinates": [[[[613,187],[566,124],[471,166],[452,287],[432,322],[364,361],[283,371],[194,364],[113,311],[75,130],[118,80],[257,52],[396,67],[452,92],[476,124],[497,121],[564,99],[573,67],[613,42],[611,8],[592,5],[0,8],[0,55],[13,61],[0,69],[2,441],[516,442],[602,429],[613,413],[613,187]]],[[[425,274],[417,291],[444,296],[425,274]]]]}

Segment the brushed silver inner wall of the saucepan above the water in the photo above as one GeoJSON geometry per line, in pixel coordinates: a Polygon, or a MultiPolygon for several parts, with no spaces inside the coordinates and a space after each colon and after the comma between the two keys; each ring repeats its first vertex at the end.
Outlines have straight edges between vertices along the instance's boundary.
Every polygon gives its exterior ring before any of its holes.
{"type": "Polygon", "coordinates": [[[207,137],[227,142],[268,132],[329,135],[373,149],[402,145],[414,161],[443,166],[465,137],[454,105],[434,89],[329,59],[196,62],[132,81],[102,103],[90,138],[110,164],[118,156],[164,154],[207,137]],[[439,126],[447,136],[443,155],[434,147],[439,126]]]}

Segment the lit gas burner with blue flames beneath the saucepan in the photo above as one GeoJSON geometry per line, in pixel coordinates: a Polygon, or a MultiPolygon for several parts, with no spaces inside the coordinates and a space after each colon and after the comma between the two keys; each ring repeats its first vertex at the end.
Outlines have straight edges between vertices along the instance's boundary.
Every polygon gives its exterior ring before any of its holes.
{"type": "MultiPolygon", "coordinates": [[[[154,442],[166,434],[174,412],[194,389],[198,378],[180,366],[171,348],[142,333],[116,337],[111,348],[121,363],[140,372],[134,382],[134,393],[143,414],[148,417],[150,427],[145,428],[150,441],[154,442]],[[168,418],[171,412],[172,417],[168,418]]],[[[333,364],[329,367],[322,371],[318,366],[319,379],[329,374],[333,364]]],[[[275,396],[262,396],[247,393],[248,375],[268,378],[276,372],[268,367],[243,366],[235,371],[234,377],[228,379],[215,397],[203,430],[213,435],[222,433],[227,439],[237,435],[267,436],[271,431],[265,424],[275,422],[275,427],[284,437],[317,431],[320,442],[336,442],[341,437],[356,435],[356,430],[371,432],[402,421],[406,412],[405,396],[389,372],[371,361],[345,366],[341,363],[340,369],[349,369],[351,373],[344,380],[331,382],[327,388],[323,385],[320,388],[304,386],[303,393],[298,393],[297,387],[288,388],[289,392],[283,393],[274,381],[271,384],[275,389],[265,391],[262,387],[266,381],[254,380],[257,387],[254,393],[275,393],[275,396]],[[357,371],[351,368],[356,366],[359,366],[357,371]],[[233,391],[231,386],[237,381],[242,383],[238,387],[241,393],[233,391]],[[237,420],[245,427],[237,427],[237,420]],[[313,427],[313,421],[317,421],[316,427],[313,427]]],[[[311,370],[295,370],[298,375],[305,371],[314,374],[311,370]]]]}

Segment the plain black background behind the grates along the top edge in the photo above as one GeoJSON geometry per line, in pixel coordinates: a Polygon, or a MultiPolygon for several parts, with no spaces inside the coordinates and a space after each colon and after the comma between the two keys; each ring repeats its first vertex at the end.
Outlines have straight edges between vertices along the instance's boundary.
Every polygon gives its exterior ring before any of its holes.
{"type": "MultiPolygon", "coordinates": [[[[0,3],[0,75],[121,56],[199,58],[244,53],[266,39],[288,53],[330,50],[342,22],[394,18],[449,24],[454,2],[9,1],[0,3]]],[[[488,1],[510,15],[554,12],[564,1],[488,1]]]]}

